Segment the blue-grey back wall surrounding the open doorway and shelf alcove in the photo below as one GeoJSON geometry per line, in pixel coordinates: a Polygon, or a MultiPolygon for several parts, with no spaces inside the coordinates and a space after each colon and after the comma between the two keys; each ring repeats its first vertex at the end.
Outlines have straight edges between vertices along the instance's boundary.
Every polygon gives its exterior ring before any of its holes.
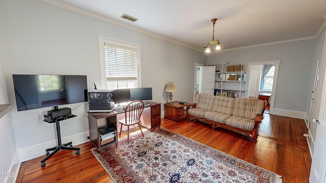
{"type": "Polygon", "coordinates": [[[212,53],[207,62],[243,65],[248,71],[249,62],[281,60],[274,108],[295,111],[300,116],[292,117],[302,118],[309,111],[315,44],[316,40],[306,40],[212,53]]]}

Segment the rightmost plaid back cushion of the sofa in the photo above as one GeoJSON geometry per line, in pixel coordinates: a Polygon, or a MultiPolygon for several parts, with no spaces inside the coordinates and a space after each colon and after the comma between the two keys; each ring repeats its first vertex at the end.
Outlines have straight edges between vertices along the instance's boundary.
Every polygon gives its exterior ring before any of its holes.
{"type": "Polygon", "coordinates": [[[233,106],[233,116],[254,119],[264,109],[264,101],[252,98],[236,98],[233,106]]]}

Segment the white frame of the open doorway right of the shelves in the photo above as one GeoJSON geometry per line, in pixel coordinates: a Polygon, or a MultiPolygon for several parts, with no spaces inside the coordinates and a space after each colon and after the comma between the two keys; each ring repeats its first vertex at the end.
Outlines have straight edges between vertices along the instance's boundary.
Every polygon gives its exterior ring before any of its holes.
{"type": "Polygon", "coordinates": [[[264,64],[275,64],[275,71],[274,71],[274,82],[273,82],[273,89],[271,89],[271,96],[269,101],[269,113],[273,114],[274,112],[274,103],[275,103],[275,94],[276,94],[276,87],[279,75],[279,68],[280,68],[280,60],[269,60],[269,61],[261,61],[261,62],[249,62],[248,69],[247,69],[247,82],[246,82],[246,97],[249,97],[249,81],[251,78],[251,67],[253,65],[264,65],[264,64]]]}

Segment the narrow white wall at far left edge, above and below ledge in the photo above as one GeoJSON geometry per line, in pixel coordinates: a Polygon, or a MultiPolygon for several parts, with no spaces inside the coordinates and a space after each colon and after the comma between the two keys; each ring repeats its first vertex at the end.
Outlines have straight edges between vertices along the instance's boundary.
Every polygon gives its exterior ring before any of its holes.
{"type": "MultiPolygon", "coordinates": [[[[0,36],[0,104],[8,103],[0,36]]],[[[13,166],[18,163],[13,120],[10,111],[0,118],[0,147],[2,147],[0,151],[0,182],[6,182],[8,178],[10,178],[8,175],[16,173],[16,171],[13,170],[13,166]],[[5,175],[3,173],[7,174],[5,175]]]]}

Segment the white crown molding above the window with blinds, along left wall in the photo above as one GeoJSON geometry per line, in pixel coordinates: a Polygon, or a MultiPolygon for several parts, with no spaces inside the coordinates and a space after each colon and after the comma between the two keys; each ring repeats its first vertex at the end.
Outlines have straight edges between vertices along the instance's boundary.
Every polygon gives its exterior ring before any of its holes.
{"type": "Polygon", "coordinates": [[[101,15],[97,15],[95,13],[92,13],[92,12],[89,12],[89,11],[86,11],[86,10],[83,10],[83,9],[76,8],[74,6],[58,2],[56,0],[38,0],[38,1],[49,4],[49,5],[52,5],[52,6],[55,6],[55,7],[58,7],[58,8],[62,8],[62,9],[65,9],[65,10],[68,10],[68,11],[71,11],[71,12],[74,12],[74,13],[78,13],[80,15],[84,15],[84,16],[87,16],[87,17],[90,17],[90,18],[94,18],[94,19],[97,19],[97,20],[100,20],[100,21],[103,21],[103,22],[106,22],[106,23],[110,23],[110,24],[117,25],[117,26],[120,26],[120,27],[123,27],[123,28],[127,28],[127,29],[129,29],[131,31],[142,33],[142,34],[145,34],[147,36],[151,36],[151,37],[154,37],[154,38],[157,38],[157,39],[168,41],[168,42],[171,42],[171,43],[174,43],[174,44],[186,47],[186,48],[194,49],[194,50],[197,50],[197,51],[203,51],[202,49],[195,48],[193,46],[189,46],[187,44],[172,40],[170,38],[166,38],[164,36],[160,36],[160,35],[145,31],[144,29],[137,28],[137,27],[125,24],[125,23],[121,23],[119,21],[112,20],[110,18],[101,16],[101,15]]]}

